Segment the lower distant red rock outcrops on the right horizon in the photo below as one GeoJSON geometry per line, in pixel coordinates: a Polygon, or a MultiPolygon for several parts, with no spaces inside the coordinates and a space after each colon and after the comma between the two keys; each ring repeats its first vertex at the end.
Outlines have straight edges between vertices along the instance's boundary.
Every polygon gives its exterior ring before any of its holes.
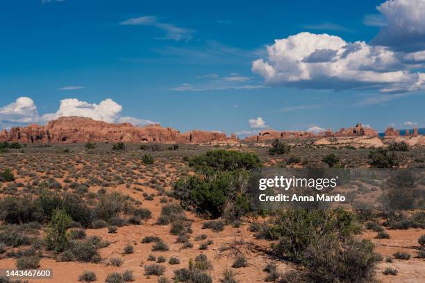
{"type": "Polygon", "coordinates": [[[331,129],[326,132],[314,133],[303,131],[276,131],[263,130],[258,135],[246,137],[245,141],[267,141],[271,139],[302,139],[302,138],[319,138],[319,137],[378,137],[378,132],[372,128],[367,128],[358,123],[356,127],[341,128],[337,132],[331,129]]]}

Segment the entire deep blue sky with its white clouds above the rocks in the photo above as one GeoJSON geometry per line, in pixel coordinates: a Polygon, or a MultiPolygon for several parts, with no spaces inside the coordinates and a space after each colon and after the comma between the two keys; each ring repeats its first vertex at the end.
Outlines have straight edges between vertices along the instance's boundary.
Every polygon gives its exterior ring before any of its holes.
{"type": "Polygon", "coordinates": [[[424,9],[422,0],[1,1],[0,128],[67,114],[240,135],[424,126],[425,25],[415,17],[424,9]]]}

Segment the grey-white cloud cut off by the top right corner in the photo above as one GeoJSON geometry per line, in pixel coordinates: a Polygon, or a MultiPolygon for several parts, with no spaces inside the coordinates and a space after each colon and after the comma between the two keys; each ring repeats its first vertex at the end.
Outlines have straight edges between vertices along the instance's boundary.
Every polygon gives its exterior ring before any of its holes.
{"type": "Polygon", "coordinates": [[[397,50],[425,49],[425,1],[391,0],[378,6],[386,25],[372,40],[373,44],[391,46],[397,50]]]}

